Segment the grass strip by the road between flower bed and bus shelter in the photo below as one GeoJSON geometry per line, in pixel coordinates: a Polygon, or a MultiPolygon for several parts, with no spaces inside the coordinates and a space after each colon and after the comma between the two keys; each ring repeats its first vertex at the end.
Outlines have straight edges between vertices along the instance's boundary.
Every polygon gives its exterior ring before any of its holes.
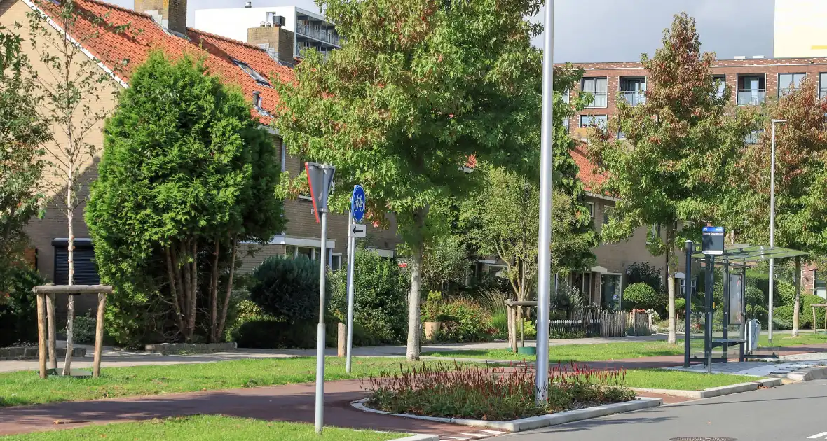
{"type": "Polygon", "coordinates": [[[629,369],[625,385],[647,389],[673,389],[678,391],[702,391],[710,387],[754,382],[760,377],[746,375],[707,374],[700,372],[671,371],[668,369],[629,369]]]}

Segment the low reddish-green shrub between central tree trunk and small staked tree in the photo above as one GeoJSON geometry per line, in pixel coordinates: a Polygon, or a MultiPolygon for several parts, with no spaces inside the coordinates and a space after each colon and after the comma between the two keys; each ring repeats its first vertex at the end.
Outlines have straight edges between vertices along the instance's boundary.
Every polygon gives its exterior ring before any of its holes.
{"type": "Polygon", "coordinates": [[[466,343],[491,339],[488,312],[476,301],[457,299],[442,305],[437,321],[443,325],[442,341],[466,343]]]}

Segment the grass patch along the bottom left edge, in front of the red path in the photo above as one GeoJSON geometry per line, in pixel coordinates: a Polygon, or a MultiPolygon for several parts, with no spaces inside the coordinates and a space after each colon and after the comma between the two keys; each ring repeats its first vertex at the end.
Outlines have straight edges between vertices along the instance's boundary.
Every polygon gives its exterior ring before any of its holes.
{"type": "Polygon", "coordinates": [[[3,441],[64,441],[69,439],[174,439],[176,441],[386,441],[404,438],[405,434],[390,434],[364,430],[326,427],[323,436],[316,436],[313,424],[283,423],[248,420],[227,416],[200,415],[141,423],[93,425],[80,429],[55,430],[35,434],[0,437],[3,441]]]}

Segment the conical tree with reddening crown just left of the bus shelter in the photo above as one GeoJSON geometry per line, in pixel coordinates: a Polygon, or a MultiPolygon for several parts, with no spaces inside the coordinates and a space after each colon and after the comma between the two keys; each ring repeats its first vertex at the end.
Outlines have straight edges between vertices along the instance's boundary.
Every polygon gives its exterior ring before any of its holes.
{"type": "Polygon", "coordinates": [[[654,255],[666,255],[671,344],[676,242],[687,227],[725,216],[720,202],[728,196],[727,183],[752,124],[729,107],[729,88],[717,95],[714,61],[715,54],[700,50],[695,20],[676,15],[654,57],[641,57],[648,71],[646,102],[633,107],[619,99],[617,116],[593,131],[590,145],[591,158],[609,177],[600,191],[619,198],[603,237],[628,238],[642,225],[665,230],[648,243],[654,255]],[[615,139],[619,131],[625,140],[615,139]]]}

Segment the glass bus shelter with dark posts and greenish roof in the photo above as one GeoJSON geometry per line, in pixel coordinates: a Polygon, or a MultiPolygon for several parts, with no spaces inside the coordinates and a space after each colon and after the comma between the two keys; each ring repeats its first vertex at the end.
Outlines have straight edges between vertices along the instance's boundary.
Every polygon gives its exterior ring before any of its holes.
{"type": "MultiPolygon", "coordinates": [[[[704,263],[704,304],[700,307],[704,315],[704,359],[707,372],[712,372],[712,352],[720,348],[722,357],[720,361],[726,363],[729,359],[728,349],[734,346],[739,347],[739,361],[744,361],[748,354],[748,323],[746,293],[746,269],[763,261],[780,258],[796,259],[796,298],[801,298],[801,256],[807,255],[797,249],[786,249],[770,245],[744,245],[737,244],[729,247],[721,246],[715,254],[697,253],[695,244],[691,240],[686,241],[686,286],[691,280],[692,262],[701,261],[704,263]],[[723,335],[719,338],[713,337],[713,318],[715,311],[714,292],[715,268],[722,268],[724,273],[724,307],[723,323],[721,328],[723,335]],[[738,325],[738,335],[729,335],[729,326],[738,325]]],[[[772,289],[770,290],[772,291],[772,289]]],[[[685,289],[686,296],[686,330],[684,334],[684,367],[689,367],[691,356],[691,320],[692,316],[692,295],[691,289],[685,289]]],[[[772,301],[772,292],[769,294],[772,301]]],[[[770,308],[772,309],[772,308],[770,308]]],[[[760,333],[760,328],[758,329],[760,333]]],[[[757,336],[756,336],[757,339],[757,336]]],[[[751,356],[758,358],[757,356],[751,356]]]]}

